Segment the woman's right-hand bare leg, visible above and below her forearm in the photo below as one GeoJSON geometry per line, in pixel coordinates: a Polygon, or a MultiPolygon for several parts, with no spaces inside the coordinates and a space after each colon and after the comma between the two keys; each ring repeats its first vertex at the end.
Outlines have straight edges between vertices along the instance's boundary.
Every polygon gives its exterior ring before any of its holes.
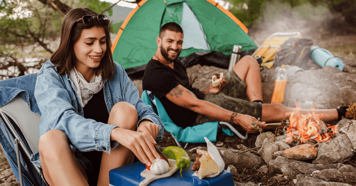
{"type": "MultiPolygon", "coordinates": [[[[112,107],[108,124],[116,125],[121,128],[136,131],[138,115],[135,106],[127,102],[118,102],[112,107]]],[[[109,184],[109,171],[123,165],[133,163],[134,154],[131,150],[117,145],[110,150],[110,154],[103,153],[100,164],[98,186],[109,184]]]]}

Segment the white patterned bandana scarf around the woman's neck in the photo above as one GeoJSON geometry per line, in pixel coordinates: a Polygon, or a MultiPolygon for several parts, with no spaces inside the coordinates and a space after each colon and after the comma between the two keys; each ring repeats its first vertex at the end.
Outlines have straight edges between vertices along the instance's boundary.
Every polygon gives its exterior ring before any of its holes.
{"type": "Polygon", "coordinates": [[[88,83],[75,67],[70,70],[70,78],[72,78],[74,89],[77,91],[82,107],[88,103],[94,94],[98,93],[104,87],[105,83],[101,75],[94,75],[94,78],[88,83]]]}

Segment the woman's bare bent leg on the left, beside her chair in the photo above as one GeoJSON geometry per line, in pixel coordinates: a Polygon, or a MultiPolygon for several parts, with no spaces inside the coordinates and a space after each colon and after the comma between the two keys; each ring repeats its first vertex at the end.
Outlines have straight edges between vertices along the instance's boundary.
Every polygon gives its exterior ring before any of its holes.
{"type": "Polygon", "coordinates": [[[43,175],[51,186],[88,186],[83,166],[75,158],[68,138],[53,129],[42,134],[38,145],[43,175]]]}

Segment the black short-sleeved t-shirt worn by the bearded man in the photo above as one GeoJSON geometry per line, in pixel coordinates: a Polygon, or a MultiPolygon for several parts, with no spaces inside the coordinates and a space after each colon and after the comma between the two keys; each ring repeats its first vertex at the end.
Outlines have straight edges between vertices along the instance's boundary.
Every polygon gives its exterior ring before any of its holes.
{"type": "Polygon", "coordinates": [[[203,100],[204,94],[200,92],[199,89],[189,85],[187,71],[179,61],[173,64],[174,69],[167,67],[157,60],[151,59],[143,75],[142,89],[151,91],[162,102],[168,116],[177,126],[182,128],[191,127],[198,114],[174,104],[165,96],[178,85],[182,85],[192,91],[198,99],[203,100]]]}

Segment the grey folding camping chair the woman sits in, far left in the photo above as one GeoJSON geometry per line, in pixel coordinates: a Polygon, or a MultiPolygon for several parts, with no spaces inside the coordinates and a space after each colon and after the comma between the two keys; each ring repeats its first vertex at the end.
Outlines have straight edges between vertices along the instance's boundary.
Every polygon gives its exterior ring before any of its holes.
{"type": "Polygon", "coordinates": [[[5,145],[8,147],[4,153],[20,185],[24,183],[25,185],[46,185],[40,174],[40,168],[30,161],[31,154],[38,151],[40,139],[38,128],[41,116],[31,112],[27,102],[20,95],[0,107],[0,116],[4,121],[4,124],[0,121],[1,145],[3,149],[5,145]]]}

